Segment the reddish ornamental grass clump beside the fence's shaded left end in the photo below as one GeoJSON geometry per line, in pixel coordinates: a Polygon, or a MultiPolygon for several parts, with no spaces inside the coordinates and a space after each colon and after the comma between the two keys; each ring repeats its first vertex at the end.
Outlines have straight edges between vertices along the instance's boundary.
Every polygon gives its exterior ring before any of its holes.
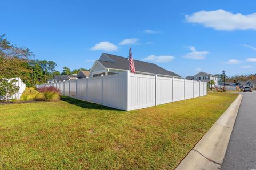
{"type": "Polygon", "coordinates": [[[60,90],[56,87],[41,87],[37,90],[44,94],[46,101],[57,101],[60,99],[60,90]]]}

